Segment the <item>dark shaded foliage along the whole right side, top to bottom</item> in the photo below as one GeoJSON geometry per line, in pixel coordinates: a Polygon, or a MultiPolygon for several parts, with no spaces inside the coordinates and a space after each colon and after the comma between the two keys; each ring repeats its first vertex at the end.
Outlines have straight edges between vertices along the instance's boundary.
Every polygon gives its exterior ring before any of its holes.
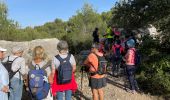
{"type": "Polygon", "coordinates": [[[169,0],[130,0],[112,9],[112,24],[138,29],[149,24],[161,33],[156,39],[145,36],[139,48],[143,62],[138,81],[152,94],[170,93],[170,2],[169,0]],[[116,19],[116,20],[115,20],[116,19]]]}

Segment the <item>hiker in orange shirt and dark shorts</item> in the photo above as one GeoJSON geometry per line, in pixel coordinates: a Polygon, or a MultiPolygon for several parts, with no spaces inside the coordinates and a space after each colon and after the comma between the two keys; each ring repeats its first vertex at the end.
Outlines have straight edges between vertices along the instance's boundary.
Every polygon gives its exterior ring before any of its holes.
{"type": "MultiPolygon", "coordinates": [[[[97,73],[99,70],[99,59],[98,57],[103,57],[103,54],[98,51],[99,46],[93,44],[91,48],[91,53],[88,55],[87,59],[84,61],[84,65],[89,67],[89,86],[91,87],[93,100],[104,100],[103,88],[106,86],[105,74],[97,73]]],[[[106,66],[105,66],[106,71],[106,66]]]]}

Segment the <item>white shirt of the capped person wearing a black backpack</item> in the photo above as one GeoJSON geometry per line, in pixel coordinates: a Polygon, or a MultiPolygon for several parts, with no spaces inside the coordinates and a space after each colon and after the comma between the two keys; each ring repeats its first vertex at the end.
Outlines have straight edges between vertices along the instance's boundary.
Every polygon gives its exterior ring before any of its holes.
{"type": "MultiPolygon", "coordinates": [[[[16,57],[15,55],[10,55],[9,56],[9,61],[13,61],[16,57]]],[[[7,62],[8,61],[8,57],[6,57],[3,62],[7,62]]],[[[27,68],[25,66],[25,59],[23,57],[18,57],[14,60],[14,62],[12,63],[12,67],[11,67],[13,72],[16,72],[19,69],[19,72],[24,75],[27,74],[27,68]]],[[[20,75],[19,72],[17,72],[14,77],[20,79],[20,75]]],[[[21,80],[23,80],[23,77],[21,75],[21,80]]]]}

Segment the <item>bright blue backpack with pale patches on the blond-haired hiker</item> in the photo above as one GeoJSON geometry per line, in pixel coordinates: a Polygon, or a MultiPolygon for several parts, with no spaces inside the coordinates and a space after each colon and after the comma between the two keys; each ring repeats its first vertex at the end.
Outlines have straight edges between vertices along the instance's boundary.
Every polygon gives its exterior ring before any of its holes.
{"type": "Polygon", "coordinates": [[[35,66],[32,66],[28,72],[29,90],[32,97],[36,98],[36,100],[42,100],[46,98],[50,90],[50,84],[44,79],[44,77],[47,76],[45,72],[47,67],[49,67],[47,64],[42,68],[36,64],[35,66]]]}

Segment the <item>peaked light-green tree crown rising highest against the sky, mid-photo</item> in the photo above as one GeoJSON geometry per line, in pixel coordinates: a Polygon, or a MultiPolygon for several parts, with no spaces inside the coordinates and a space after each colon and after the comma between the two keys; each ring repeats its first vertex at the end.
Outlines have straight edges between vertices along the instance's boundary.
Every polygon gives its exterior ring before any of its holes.
{"type": "Polygon", "coordinates": [[[92,5],[85,3],[77,15],[70,18],[69,26],[75,28],[81,34],[91,34],[95,27],[99,29],[106,25],[100,14],[93,9],[92,5]]]}

